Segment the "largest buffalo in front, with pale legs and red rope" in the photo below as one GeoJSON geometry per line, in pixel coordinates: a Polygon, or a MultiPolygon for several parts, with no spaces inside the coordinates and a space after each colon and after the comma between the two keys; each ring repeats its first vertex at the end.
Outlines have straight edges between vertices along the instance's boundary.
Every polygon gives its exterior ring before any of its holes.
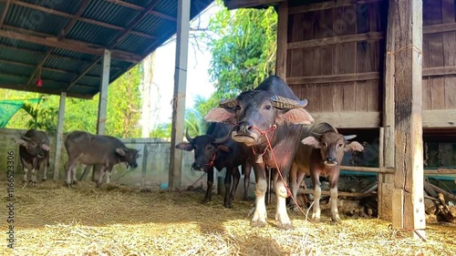
{"type": "MultiPolygon", "coordinates": [[[[263,227],[266,223],[264,194],[267,182],[264,165],[280,170],[287,180],[301,129],[303,125],[314,121],[304,109],[306,104],[307,100],[299,100],[282,79],[271,76],[254,90],[222,101],[219,108],[212,108],[204,117],[206,121],[234,124],[236,128],[232,138],[250,148],[249,159],[254,166],[256,179],[252,226],[263,227]]],[[[288,194],[278,174],[279,171],[275,171],[275,220],[280,228],[291,229],[293,226],[285,204],[288,194]]]]}

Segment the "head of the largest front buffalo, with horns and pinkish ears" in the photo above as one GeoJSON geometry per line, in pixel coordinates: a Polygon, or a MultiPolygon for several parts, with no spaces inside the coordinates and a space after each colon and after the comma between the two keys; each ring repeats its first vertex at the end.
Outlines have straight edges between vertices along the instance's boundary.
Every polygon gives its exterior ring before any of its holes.
{"type": "Polygon", "coordinates": [[[266,90],[246,91],[235,99],[222,101],[204,119],[236,125],[232,138],[252,146],[263,142],[260,131],[273,126],[311,124],[314,119],[306,111],[306,104],[306,99],[280,97],[266,90]]]}

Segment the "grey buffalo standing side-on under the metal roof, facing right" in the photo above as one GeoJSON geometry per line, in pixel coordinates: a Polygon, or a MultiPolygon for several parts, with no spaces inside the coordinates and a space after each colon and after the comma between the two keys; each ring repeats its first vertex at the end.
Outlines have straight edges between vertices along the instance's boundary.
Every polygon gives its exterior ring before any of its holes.
{"type": "Polygon", "coordinates": [[[101,165],[97,187],[101,185],[101,180],[106,173],[106,183],[112,167],[124,162],[127,168],[137,168],[136,159],[141,157],[137,149],[127,148],[119,138],[104,135],[94,135],[85,131],[73,131],[65,139],[68,160],[65,164],[67,173],[67,186],[76,184],[76,164],[81,162],[85,165],[101,165]]]}

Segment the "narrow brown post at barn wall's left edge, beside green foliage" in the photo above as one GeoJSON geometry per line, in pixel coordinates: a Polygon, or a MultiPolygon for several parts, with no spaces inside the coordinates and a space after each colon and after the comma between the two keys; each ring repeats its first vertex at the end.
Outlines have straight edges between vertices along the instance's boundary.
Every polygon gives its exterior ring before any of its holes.
{"type": "Polygon", "coordinates": [[[286,49],[288,29],[288,1],[279,5],[277,20],[277,54],[275,61],[275,75],[286,81],[286,49]]]}

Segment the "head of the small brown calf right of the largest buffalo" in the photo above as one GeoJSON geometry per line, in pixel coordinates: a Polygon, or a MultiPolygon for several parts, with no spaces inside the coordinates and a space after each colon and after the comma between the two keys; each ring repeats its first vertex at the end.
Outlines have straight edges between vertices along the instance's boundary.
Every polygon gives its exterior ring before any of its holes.
{"type": "Polygon", "coordinates": [[[344,158],[346,151],[362,151],[363,146],[358,141],[347,141],[356,138],[356,135],[343,136],[336,131],[328,131],[324,134],[313,133],[304,138],[301,143],[320,149],[321,159],[326,166],[337,166],[344,158]]]}

